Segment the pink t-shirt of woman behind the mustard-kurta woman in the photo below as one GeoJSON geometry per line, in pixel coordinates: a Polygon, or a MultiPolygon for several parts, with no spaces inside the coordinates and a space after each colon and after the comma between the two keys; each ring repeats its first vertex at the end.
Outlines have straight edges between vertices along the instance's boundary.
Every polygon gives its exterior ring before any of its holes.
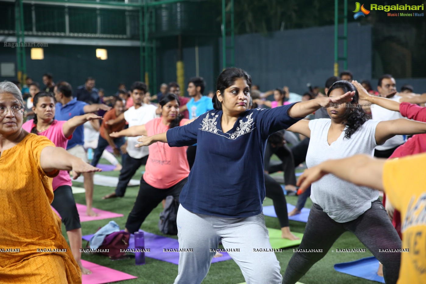
{"type": "MultiPolygon", "coordinates": [[[[66,149],[66,145],[68,144],[68,140],[71,139],[72,135],[68,138],[63,135],[63,124],[66,121],[58,121],[53,120],[52,124],[48,129],[39,132],[38,135],[43,135],[49,138],[55,146],[66,149]]],[[[28,132],[31,132],[33,120],[28,120],[26,123],[22,125],[22,128],[28,132]]],[[[52,157],[53,158],[53,157],[52,157]]],[[[71,178],[67,171],[59,171],[59,175],[53,178],[52,187],[53,191],[55,191],[59,186],[69,185],[72,186],[71,178]]]]}

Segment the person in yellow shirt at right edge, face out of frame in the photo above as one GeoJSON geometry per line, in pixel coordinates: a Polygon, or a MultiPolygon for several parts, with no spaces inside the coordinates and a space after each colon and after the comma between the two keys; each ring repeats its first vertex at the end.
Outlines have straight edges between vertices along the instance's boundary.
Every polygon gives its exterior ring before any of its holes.
{"type": "Polygon", "coordinates": [[[392,160],[354,155],[328,160],[306,169],[300,176],[299,192],[304,192],[324,175],[333,174],[358,186],[386,192],[401,212],[401,267],[397,284],[426,284],[426,153],[392,160]]]}

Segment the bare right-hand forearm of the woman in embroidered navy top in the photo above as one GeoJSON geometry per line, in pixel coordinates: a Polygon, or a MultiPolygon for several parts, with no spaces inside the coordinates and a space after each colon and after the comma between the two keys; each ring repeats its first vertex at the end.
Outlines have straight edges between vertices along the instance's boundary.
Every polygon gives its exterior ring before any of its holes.
{"type": "Polygon", "coordinates": [[[288,110],[288,115],[292,118],[304,118],[321,107],[327,108],[332,104],[348,103],[354,95],[355,92],[347,92],[339,97],[316,98],[307,102],[296,103],[288,110]]]}

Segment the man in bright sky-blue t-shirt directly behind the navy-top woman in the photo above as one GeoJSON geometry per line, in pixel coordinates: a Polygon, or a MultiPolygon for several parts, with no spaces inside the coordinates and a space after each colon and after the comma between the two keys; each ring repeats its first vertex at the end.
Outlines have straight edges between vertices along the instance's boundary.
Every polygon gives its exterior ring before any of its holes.
{"type": "MultiPolygon", "coordinates": [[[[213,109],[212,99],[203,96],[205,86],[206,83],[202,77],[193,77],[188,82],[187,92],[191,99],[186,105],[181,106],[179,111],[184,112],[188,110],[189,119],[198,118],[203,113],[213,109]]],[[[196,151],[197,144],[189,146],[187,149],[187,159],[190,169],[192,169],[194,164],[196,151]]]]}

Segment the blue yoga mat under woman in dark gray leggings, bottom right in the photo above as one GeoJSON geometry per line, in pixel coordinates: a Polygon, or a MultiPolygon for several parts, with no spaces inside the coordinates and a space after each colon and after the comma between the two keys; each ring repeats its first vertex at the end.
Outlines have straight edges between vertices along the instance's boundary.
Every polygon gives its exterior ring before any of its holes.
{"type": "Polygon", "coordinates": [[[334,264],[334,270],[371,281],[385,283],[382,276],[377,275],[379,261],[374,257],[361,258],[356,261],[334,264]]]}

